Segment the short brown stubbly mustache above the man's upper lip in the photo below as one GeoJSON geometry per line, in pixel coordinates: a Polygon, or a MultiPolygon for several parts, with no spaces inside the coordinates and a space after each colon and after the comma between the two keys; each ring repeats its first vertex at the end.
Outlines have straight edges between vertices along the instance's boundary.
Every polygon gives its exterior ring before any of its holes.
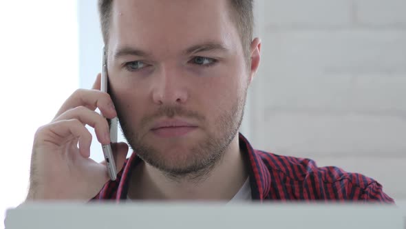
{"type": "Polygon", "coordinates": [[[151,121],[159,119],[161,117],[184,117],[204,121],[203,115],[200,115],[198,112],[195,112],[193,110],[187,110],[182,106],[161,106],[156,112],[153,113],[153,115],[142,118],[141,123],[150,123],[151,121]]]}

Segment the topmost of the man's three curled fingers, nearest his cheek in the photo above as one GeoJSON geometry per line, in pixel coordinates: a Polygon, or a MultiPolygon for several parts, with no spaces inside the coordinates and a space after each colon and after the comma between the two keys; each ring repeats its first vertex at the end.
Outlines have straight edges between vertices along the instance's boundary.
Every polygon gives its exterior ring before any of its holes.
{"type": "Polygon", "coordinates": [[[117,116],[116,108],[114,108],[109,94],[100,92],[100,90],[78,89],[63,103],[55,117],[78,106],[85,106],[90,110],[98,108],[109,119],[117,116]]]}

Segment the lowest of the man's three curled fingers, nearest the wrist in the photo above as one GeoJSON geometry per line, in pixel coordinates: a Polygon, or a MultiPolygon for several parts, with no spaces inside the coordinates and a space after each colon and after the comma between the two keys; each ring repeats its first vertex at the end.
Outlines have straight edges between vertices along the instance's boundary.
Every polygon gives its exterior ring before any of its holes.
{"type": "Polygon", "coordinates": [[[40,135],[44,136],[43,139],[39,139],[40,141],[51,141],[56,145],[63,145],[67,140],[76,138],[81,155],[83,157],[90,156],[92,135],[78,119],[56,121],[44,126],[39,132],[44,134],[40,135]]]}

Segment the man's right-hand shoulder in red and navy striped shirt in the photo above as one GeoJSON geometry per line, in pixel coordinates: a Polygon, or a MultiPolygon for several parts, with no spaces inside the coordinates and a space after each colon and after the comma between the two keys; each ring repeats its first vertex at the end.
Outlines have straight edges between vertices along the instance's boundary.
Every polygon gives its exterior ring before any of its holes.
{"type": "MultiPolygon", "coordinates": [[[[284,192],[291,199],[331,199],[393,202],[380,183],[334,166],[318,167],[312,159],[255,150],[270,173],[270,195],[284,192]],[[273,186],[273,187],[272,187],[273,186]]],[[[275,196],[274,196],[275,197],[275,196]]]]}

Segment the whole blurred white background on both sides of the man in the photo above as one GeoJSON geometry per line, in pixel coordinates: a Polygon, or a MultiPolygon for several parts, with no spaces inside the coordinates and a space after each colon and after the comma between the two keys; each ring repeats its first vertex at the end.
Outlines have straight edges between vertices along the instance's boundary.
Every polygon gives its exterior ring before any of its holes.
{"type": "MultiPolygon", "coordinates": [[[[406,199],[406,1],[255,0],[255,17],[262,59],[242,133],[406,199]]],[[[7,1],[0,28],[2,215],[27,194],[34,132],[92,86],[103,42],[96,0],[7,1]]]]}

